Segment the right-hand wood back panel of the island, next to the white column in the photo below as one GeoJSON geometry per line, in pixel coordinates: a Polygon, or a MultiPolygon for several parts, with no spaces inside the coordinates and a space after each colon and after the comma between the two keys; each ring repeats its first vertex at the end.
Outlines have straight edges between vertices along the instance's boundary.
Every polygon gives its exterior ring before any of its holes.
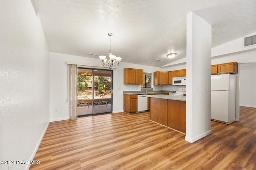
{"type": "Polygon", "coordinates": [[[186,102],[168,100],[167,126],[186,133],[186,102]]]}

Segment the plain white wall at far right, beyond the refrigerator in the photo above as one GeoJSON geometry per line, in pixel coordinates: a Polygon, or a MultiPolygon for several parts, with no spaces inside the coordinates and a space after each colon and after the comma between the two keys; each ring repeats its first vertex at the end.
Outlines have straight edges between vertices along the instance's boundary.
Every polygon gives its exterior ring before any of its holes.
{"type": "Polygon", "coordinates": [[[240,64],[240,106],[256,107],[256,62],[240,64]]]}

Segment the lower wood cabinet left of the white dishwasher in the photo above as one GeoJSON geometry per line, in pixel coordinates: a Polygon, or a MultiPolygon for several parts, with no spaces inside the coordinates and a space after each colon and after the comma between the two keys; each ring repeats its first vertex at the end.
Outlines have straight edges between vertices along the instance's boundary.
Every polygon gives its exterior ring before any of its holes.
{"type": "Polygon", "coordinates": [[[138,110],[138,95],[124,94],[124,112],[133,113],[138,110]]]}

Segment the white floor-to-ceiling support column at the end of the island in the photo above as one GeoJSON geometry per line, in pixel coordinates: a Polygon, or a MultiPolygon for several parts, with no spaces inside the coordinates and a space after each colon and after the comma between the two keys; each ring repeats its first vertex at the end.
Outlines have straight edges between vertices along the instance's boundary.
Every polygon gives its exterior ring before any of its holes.
{"type": "Polygon", "coordinates": [[[211,131],[212,25],[187,15],[186,137],[193,143],[211,131]]]}

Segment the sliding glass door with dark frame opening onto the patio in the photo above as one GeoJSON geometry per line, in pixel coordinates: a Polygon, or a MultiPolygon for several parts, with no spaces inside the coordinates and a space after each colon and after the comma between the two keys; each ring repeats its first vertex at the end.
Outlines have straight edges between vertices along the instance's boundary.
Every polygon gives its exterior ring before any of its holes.
{"type": "Polygon", "coordinates": [[[112,70],[78,67],[77,81],[78,116],[112,113],[112,70]]]}

